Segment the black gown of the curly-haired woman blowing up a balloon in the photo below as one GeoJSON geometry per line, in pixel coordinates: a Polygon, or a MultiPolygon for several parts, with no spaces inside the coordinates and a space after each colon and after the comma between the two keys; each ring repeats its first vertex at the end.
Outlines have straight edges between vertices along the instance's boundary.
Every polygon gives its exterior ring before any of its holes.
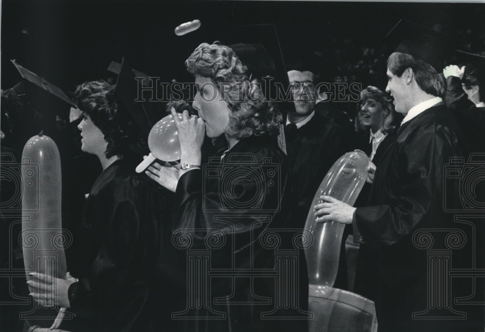
{"type": "MultiPolygon", "coordinates": [[[[264,273],[257,277],[257,269],[275,269],[275,250],[261,245],[268,243],[261,233],[272,229],[280,244],[286,244],[287,173],[287,159],[277,142],[269,136],[251,136],[233,146],[222,161],[215,158],[204,170],[191,170],[180,177],[174,237],[182,231],[191,238],[182,259],[189,260],[194,251],[210,252],[210,273],[216,269],[226,272],[220,272],[219,277],[209,277],[207,271],[197,273],[205,278],[197,285],[211,287],[207,302],[202,295],[195,296],[186,314],[198,318],[182,317],[179,331],[306,331],[306,320],[260,318],[276,304],[275,278],[264,277],[264,273]],[[208,236],[211,233],[214,236],[208,236]],[[256,277],[244,276],[248,274],[256,277]],[[270,298],[271,303],[259,303],[261,296],[270,298]],[[220,302],[221,297],[229,297],[232,303],[220,302]],[[194,304],[199,300],[211,309],[194,304]],[[214,316],[216,319],[209,319],[214,316]]],[[[189,271],[187,278],[190,276],[189,271]]]]}

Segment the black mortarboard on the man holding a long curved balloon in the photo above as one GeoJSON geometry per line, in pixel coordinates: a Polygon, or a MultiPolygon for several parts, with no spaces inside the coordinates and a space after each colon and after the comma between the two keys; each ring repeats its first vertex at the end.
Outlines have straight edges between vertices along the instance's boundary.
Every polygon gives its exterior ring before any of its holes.
{"type": "Polygon", "coordinates": [[[395,45],[393,52],[411,54],[430,64],[438,73],[443,70],[453,50],[463,43],[452,36],[406,20],[400,20],[388,32],[386,39],[395,45]]]}

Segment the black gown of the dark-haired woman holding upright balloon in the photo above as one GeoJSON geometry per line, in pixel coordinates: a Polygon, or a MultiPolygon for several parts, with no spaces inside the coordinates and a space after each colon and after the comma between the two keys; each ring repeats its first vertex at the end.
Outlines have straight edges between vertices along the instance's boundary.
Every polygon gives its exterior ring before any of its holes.
{"type": "Polygon", "coordinates": [[[68,331],[150,331],[146,314],[160,252],[162,197],[159,186],[136,164],[115,161],[89,194],[69,287],[68,331]]]}

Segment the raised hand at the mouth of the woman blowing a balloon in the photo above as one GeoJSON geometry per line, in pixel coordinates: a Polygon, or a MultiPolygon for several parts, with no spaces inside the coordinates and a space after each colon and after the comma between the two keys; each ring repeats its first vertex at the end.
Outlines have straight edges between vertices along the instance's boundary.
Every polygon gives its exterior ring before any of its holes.
{"type": "Polygon", "coordinates": [[[204,142],[204,120],[196,115],[189,116],[188,111],[183,111],[182,120],[178,119],[174,108],[171,110],[178,131],[180,142],[181,163],[200,165],[201,147],[204,142]]]}

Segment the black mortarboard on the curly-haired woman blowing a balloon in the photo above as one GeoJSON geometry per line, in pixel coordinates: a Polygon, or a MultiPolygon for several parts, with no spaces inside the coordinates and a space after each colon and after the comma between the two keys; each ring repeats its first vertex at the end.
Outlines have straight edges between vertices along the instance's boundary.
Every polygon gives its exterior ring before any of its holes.
{"type": "Polygon", "coordinates": [[[281,88],[287,89],[290,82],[275,25],[242,25],[234,30],[230,37],[232,42],[225,45],[231,47],[247,66],[251,79],[258,79],[266,98],[278,102],[282,112],[294,111],[291,95],[279,100],[283,97],[281,88]]]}

